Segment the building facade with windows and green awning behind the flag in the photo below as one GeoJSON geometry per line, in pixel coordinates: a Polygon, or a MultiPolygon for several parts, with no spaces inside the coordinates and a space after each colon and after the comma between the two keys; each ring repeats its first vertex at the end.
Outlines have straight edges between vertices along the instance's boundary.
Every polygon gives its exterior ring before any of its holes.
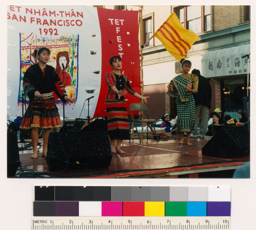
{"type": "Polygon", "coordinates": [[[180,65],[157,38],[147,42],[173,12],[186,29],[200,38],[189,50],[187,59],[192,62],[191,70],[197,68],[210,81],[210,111],[220,108],[223,115],[230,113],[237,118],[238,111],[247,110],[250,70],[249,55],[245,55],[250,54],[250,6],[105,7],[140,11],[139,40],[144,45],[143,93],[151,96],[148,107],[153,118],[159,119],[164,113],[176,116],[175,100],[170,99],[166,91],[180,65]]]}

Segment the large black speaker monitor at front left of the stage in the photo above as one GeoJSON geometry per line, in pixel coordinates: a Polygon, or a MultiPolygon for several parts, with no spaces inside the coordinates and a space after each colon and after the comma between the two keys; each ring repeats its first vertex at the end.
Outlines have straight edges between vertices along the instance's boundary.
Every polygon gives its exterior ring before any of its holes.
{"type": "Polygon", "coordinates": [[[47,165],[50,170],[107,168],[112,152],[107,131],[49,134],[47,165]]]}

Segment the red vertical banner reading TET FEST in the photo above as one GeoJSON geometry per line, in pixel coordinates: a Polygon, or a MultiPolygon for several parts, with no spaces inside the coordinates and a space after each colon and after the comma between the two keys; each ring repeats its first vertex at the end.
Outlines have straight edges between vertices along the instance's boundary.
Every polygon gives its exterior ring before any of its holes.
{"type": "MultiPolygon", "coordinates": [[[[138,40],[138,11],[108,10],[98,8],[101,31],[101,86],[94,117],[105,117],[105,99],[108,85],[105,73],[112,71],[109,59],[122,58],[121,73],[131,81],[134,91],[140,94],[140,54],[138,40]]],[[[139,99],[126,94],[127,108],[139,99]]],[[[128,109],[129,110],[129,109],[128,109]]]]}

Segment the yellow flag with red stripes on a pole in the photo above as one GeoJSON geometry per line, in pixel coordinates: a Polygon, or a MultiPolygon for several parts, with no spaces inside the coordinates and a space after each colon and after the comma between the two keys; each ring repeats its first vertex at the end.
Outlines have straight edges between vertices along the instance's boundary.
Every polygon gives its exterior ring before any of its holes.
{"type": "MultiPolygon", "coordinates": [[[[186,30],[175,13],[172,13],[163,25],[153,34],[157,37],[165,49],[177,60],[186,58],[187,52],[191,49],[199,37],[191,30],[186,30]]],[[[152,38],[151,37],[151,38],[152,38]]],[[[150,39],[151,39],[150,38],[150,39]]]]}

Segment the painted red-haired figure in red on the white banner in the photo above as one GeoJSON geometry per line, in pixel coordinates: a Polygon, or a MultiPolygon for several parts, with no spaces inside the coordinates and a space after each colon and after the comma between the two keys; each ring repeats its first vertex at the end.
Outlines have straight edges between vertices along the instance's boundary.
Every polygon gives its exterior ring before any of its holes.
{"type": "MultiPolygon", "coordinates": [[[[76,87],[72,86],[72,78],[70,74],[67,72],[69,67],[69,52],[68,51],[60,51],[56,55],[56,71],[59,75],[60,80],[63,82],[65,86],[66,93],[69,97],[75,98],[76,97],[76,87]],[[63,64],[63,65],[62,65],[63,64]],[[64,66],[64,70],[63,70],[64,66]],[[64,78],[64,81],[63,81],[64,78]]],[[[59,100],[59,98],[54,95],[55,100],[59,100]]]]}

